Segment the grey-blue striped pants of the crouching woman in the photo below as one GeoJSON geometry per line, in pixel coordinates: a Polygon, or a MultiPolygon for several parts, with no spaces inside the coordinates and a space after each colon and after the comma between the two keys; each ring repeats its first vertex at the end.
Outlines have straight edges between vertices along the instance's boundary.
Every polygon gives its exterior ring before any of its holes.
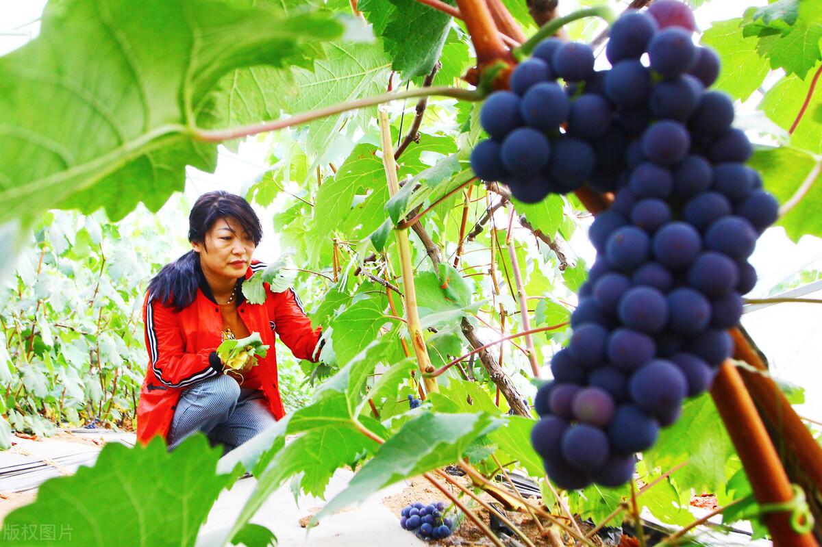
{"type": "Polygon", "coordinates": [[[169,452],[202,431],[223,455],[276,422],[259,389],[240,388],[226,375],[204,379],[184,389],[169,430],[169,452]]]}

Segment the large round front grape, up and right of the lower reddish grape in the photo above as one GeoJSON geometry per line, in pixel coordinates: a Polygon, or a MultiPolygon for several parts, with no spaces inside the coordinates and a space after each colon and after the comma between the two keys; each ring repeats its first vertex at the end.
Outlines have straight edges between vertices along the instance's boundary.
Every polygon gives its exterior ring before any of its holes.
{"type": "Polygon", "coordinates": [[[652,416],[667,416],[682,404],[688,381],[671,361],[657,359],[644,365],[628,381],[630,398],[652,416]]]}

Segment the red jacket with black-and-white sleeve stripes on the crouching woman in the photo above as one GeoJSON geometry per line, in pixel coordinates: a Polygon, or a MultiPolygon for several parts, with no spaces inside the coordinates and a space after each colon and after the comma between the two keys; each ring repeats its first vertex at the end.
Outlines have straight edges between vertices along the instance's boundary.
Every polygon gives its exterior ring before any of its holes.
{"type": "MultiPolygon", "coordinates": [[[[266,264],[252,261],[245,278],[264,269],[266,264]]],[[[275,332],[298,359],[316,362],[315,348],[321,329],[312,329],[293,289],[271,292],[269,284],[265,286],[264,304],[250,304],[241,296],[237,310],[248,330],[260,333],[262,342],[270,346],[266,358],[259,358],[255,372],[268,407],[279,420],[285,411],[277,383],[275,332]]],[[[149,365],[137,404],[137,440],[141,444],[147,444],[158,434],[168,440],[183,389],[223,374],[219,358],[216,353],[212,355],[221,341],[222,317],[207,284],[204,287],[201,281],[200,287],[192,304],[179,312],[159,300],[150,301],[148,294],[145,296],[143,322],[149,365]]]]}

